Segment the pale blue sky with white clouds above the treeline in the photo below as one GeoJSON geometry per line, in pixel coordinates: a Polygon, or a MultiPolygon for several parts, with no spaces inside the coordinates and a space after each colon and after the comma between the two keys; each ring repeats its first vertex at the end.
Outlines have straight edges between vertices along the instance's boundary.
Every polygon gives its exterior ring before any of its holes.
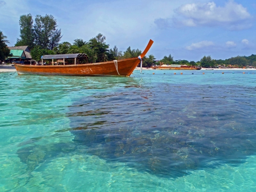
{"type": "Polygon", "coordinates": [[[0,0],[0,31],[9,46],[19,38],[19,17],[51,14],[61,41],[88,41],[98,33],[110,47],[143,50],[157,59],[198,61],[256,54],[255,0],[0,0]]]}

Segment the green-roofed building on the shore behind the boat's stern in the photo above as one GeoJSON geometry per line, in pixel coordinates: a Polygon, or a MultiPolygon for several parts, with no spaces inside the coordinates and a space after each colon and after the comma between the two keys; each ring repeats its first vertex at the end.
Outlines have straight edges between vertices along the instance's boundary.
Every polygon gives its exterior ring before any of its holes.
{"type": "Polygon", "coordinates": [[[6,62],[10,63],[29,63],[32,59],[28,46],[8,47],[12,57],[8,57],[6,62]]]}

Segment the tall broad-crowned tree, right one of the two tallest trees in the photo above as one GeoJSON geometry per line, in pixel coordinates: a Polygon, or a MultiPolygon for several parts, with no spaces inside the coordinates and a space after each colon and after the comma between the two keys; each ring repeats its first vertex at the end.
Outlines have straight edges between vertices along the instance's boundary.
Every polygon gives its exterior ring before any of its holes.
{"type": "Polygon", "coordinates": [[[43,49],[53,49],[61,40],[61,30],[56,29],[57,21],[52,15],[37,15],[35,18],[35,44],[43,49]]]}

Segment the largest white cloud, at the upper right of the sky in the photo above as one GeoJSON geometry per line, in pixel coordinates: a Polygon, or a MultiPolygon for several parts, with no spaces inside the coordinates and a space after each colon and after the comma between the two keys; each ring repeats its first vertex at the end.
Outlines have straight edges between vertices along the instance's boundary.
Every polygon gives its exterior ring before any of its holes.
{"type": "MultiPolygon", "coordinates": [[[[247,9],[232,0],[223,7],[214,2],[188,3],[180,6],[175,12],[174,17],[165,20],[168,20],[166,23],[177,27],[221,26],[230,30],[241,30],[252,26],[252,16],[247,9]]],[[[157,22],[158,20],[155,20],[155,23],[157,22]]]]}

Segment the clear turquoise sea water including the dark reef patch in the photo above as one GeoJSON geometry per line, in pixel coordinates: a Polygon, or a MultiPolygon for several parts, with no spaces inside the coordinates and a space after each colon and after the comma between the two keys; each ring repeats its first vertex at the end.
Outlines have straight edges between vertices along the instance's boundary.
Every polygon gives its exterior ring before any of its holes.
{"type": "Polygon", "coordinates": [[[221,72],[0,73],[0,191],[255,191],[256,71],[221,72]]]}

